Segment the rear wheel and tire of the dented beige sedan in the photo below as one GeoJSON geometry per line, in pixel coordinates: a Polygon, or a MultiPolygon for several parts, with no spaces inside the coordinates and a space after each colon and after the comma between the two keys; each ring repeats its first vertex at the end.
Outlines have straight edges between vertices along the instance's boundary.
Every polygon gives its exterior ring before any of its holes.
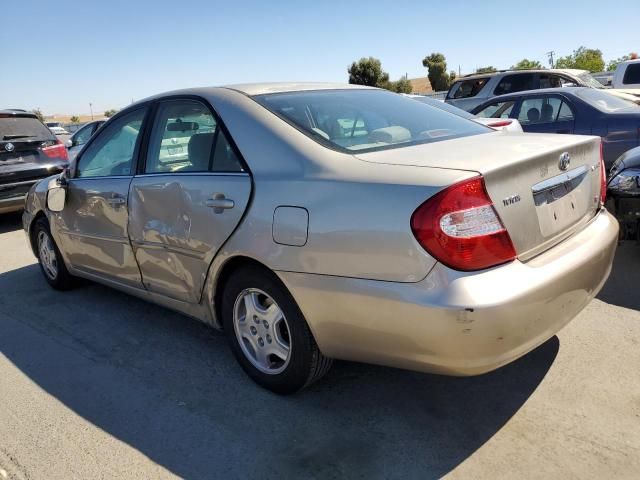
{"type": "Polygon", "coordinates": [[[268,270],[249,266],[234,272],[224,285],[221,307],[234,356],[264,388],[295,393],[331,367],[295,300],[268,270]]]}

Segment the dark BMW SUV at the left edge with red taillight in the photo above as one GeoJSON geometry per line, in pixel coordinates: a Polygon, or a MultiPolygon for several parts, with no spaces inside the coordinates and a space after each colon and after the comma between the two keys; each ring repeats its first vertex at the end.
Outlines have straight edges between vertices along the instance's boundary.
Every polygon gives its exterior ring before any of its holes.
{"type": "Polygon", "coordinates": [[[68,165],[67,149],[38,117],[0,110],[0,213],[22,210],[31,185],[68,165]]]}

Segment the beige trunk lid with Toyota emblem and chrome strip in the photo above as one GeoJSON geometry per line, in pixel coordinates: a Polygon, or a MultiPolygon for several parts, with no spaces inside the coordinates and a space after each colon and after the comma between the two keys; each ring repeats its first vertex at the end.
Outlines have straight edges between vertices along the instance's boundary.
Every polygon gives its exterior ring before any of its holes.
{"type": "Polygon", "coordinates": [[[600,207],[599,137],[496,132],[356,157],[481,174],[523,261],[582,228],[600,207]]]}

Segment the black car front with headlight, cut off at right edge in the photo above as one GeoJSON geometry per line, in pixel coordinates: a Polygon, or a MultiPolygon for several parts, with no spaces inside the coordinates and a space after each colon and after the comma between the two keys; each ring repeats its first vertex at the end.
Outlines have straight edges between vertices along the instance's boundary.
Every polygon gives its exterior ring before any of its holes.
{"type": "Polygon", "coordinates": [[[607,208],[620,222],[620,238],[640,242],[640,147],[620,155],[611,167],[607,208]]]}

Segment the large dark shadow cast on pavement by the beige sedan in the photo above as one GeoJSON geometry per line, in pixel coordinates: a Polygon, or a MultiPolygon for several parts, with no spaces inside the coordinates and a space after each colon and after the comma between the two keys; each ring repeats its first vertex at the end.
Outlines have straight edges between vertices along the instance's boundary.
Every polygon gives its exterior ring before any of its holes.
{"type": "Polygon", "coordinates": [[[0,353],[184,478],[441,477],[522,407],[558,348],[553,337],[471,378],[337,362],[281,397],[254,385],[224,336],[194,320],[95,284],[55,292],[37,265],[0,275],[0,353]]]}

